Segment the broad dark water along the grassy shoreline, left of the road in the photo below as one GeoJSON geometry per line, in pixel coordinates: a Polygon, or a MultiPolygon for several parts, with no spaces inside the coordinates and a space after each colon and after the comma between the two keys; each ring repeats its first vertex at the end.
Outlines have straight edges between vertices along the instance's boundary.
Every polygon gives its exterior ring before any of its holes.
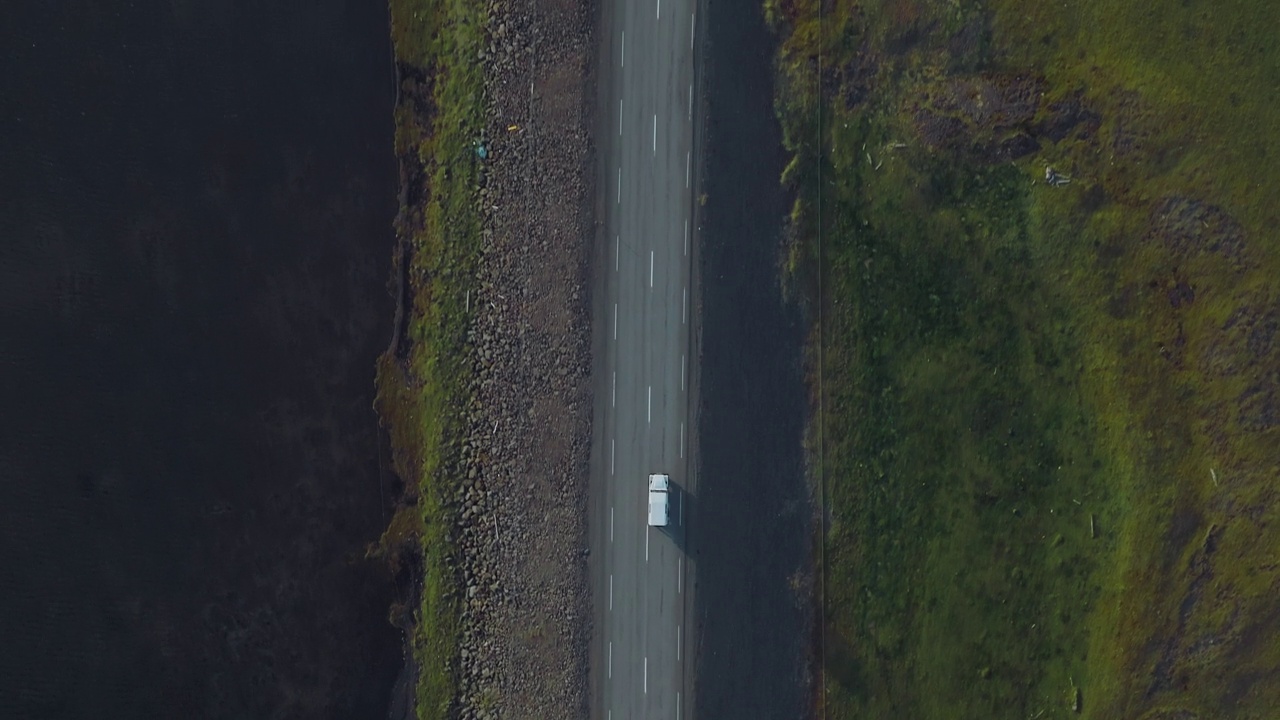
{"type": "Polygon", "coordinates": [[[0,717],[384,715],[385,4],[6,4],[0,59],[0,717]]]}

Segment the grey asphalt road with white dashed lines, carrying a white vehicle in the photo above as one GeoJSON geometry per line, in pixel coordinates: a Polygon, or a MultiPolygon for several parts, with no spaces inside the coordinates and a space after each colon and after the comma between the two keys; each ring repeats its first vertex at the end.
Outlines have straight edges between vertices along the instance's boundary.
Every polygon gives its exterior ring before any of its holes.
{"type": "Polygon", "coordinates": [[[594,293],[593,715],[689,717],[694,0],[607,0],[594,293]],[[648,527],[646,480],[682,492],[648,527]]]}

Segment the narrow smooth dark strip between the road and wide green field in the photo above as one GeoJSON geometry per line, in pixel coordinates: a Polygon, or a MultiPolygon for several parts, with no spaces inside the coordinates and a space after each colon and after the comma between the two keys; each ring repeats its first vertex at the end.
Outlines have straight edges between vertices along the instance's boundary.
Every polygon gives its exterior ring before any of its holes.
{"type": "Polygon", "coordinates": [[[700,717],[796,720],[809,715],[810,594],[794,579],[813,527],[804,334],[778,286],[787,205],[774,38],[754,5],[705,6],[696,703],[700,717]]]}

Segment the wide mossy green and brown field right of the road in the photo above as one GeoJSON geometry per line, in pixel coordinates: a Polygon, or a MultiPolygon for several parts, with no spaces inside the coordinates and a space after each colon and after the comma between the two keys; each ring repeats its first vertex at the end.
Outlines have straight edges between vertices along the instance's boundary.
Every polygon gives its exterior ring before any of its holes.
{"type": "Polygon", "coordinates": [[[764,12],[826,716],[1268,716],[1280,6],[764,12]]]}

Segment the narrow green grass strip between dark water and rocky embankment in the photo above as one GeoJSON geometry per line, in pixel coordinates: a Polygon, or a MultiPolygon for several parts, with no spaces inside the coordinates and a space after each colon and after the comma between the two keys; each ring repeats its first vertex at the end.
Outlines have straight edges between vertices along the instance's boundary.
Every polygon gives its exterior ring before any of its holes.
{"type": "Polygon", "coordinates": [[[466,0],[390,0],[399,78],[401,163],[396,338],[378,363],[378,413],[407,484],[372,552],[416,588],[392,621],[412,637],[416,707],[448,717],[456,702],[460,593],[449,498],[456,486],[467,288],[479,258],[475,142],[483,126],[485,9],[466,0]]]}

